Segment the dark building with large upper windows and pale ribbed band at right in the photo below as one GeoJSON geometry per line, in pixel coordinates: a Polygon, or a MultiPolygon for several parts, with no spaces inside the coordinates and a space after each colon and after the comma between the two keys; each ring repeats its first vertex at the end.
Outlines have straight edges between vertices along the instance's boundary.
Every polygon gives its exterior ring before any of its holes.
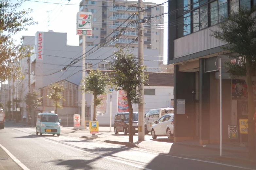
{"type": "MultiPolygon", "coordinates": [[[[221,31],[218,25],[225,21],[230,11],[238,12],[241,7],[253,5],[256,0],[168,2],[168,64],[174,64],[174,141],[199,139],[202,145],[220,142],[220,86],[215,62],[219,55],[226,55],[236,63],[239,61],[221,48],[227,46],[227,42],[211,36],[211,30],[221,31]]],[[[228,125],[239,127],[239,119],[248,119],[247,97],[240,99],[234,94],[235,86],[239,83],[246,86],[246,81],[245,77],[232,80],[223,77],[223,142],[229,141],[228,125]]]]}

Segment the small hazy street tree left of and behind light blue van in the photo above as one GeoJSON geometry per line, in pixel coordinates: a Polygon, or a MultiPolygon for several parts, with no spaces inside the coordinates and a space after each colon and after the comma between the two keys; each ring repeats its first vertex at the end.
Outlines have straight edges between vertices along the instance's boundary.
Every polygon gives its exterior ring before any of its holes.
{"type": "MultiPolygon", "coordinates": [[[[24,102],[28,106],[27,111],[28,114],[31,114],[31,107],[35,110],[36,108],[42,106],[42,98],[38,97],[40,95],[39,92],[33,90],[32,92],[28,92],[24,98],[24,102]]],[[[27,115],[28,117],[28,115],[27,115]]],[[[35,116],[34,116],[35,117],[35,116]]]]}

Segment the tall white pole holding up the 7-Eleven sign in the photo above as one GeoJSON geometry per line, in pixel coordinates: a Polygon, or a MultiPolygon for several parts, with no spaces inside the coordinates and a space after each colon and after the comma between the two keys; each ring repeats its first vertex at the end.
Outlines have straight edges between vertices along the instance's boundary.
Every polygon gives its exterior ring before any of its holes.
{"type": "MultiPolygon", "coordinates": [[[[85,78],[85,35],[82,35],[83,37],[83,64],[82,64],[82,79],[85,78]]],[[[83,82],[84,85],[84,82],[83,82]]],[[[81,100],[81,125],[80,125],[80,129],[85,129],[85,93],[82,92],[82,100],[81,100]]]]}

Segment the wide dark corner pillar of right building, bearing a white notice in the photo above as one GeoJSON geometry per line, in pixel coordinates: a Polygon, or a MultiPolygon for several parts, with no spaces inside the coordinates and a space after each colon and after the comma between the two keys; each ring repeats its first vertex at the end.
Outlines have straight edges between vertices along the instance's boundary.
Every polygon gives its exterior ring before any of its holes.
{"type": "Polygon", "coordinates": [[[174,141],[193,140],[195,136],[195,73],[181,72],[174,65],[174,141]],[[185,114],[177,114],[177,99],[185,99],[185,114]]]}

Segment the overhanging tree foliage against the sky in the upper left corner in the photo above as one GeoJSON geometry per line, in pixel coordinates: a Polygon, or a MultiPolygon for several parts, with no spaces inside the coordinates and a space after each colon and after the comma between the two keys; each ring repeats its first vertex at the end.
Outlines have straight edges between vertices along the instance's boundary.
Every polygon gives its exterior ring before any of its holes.
{"type": "Polygon", "coordinates": [[[25,0],[10,4],[8,0],[0,1],[0,81],[3,82],[10,78],[20,78],[19,61],[24,57],[29,57],[31,48],[18,45],[11,36],[20,31],[27,30],[26,26],[35,25],[32,18],[26,15],[33,10],[22,10],[16,12],[25,0]]]}

